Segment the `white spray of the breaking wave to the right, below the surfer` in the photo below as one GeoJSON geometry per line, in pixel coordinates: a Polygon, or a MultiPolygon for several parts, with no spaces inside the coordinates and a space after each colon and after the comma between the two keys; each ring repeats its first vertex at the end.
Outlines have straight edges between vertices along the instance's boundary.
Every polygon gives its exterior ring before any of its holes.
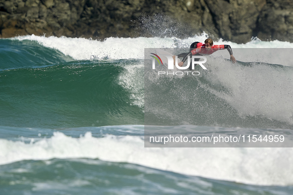
{"type": "Polygon", "coordinates": [[[252,67],[235,66],[222,58],[209,58],[211,70],[206,79],[212,85],[223,86],[229,93],[211,93],[225,99],[240,116],[265,116],[293,124],[293,70],[267,64],[252,67]]]}

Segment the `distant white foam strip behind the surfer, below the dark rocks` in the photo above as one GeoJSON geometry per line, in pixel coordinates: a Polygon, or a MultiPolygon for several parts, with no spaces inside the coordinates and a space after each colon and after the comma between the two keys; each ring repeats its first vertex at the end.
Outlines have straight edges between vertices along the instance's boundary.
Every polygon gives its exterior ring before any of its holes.
{"type": "MultiPolygon", "coordinates": [[[[199,41],[203,42],[208,35],[203,33],[200,36],[194,36],[187,39],[172,38],[114,38],[110,37],[103,41],[90,40],[84,38],[66,38],[66,37],[44,37],[44,36],[19,36],[12,38],[13,40],[31,40],[39,44],[57,49],[65,55],[69,55],[76,60],[92,59],[92,58],[112,58],[112,59],[143,59],[145,48],[189,48],[190,44],[199,41]]],[[[246,44],[236,44],[233,42],[223,41],[222,39],[214,42],[215,45],[228,44],[235,48],[293,48],[293,43],[281,41],[260,41],[253,39],[246,44]]],[[[215,56],[223,53],[215,52],[215,56]]],[[[224,54],[228,56],[226,51],[224,54]]],[[[245,61],[245,53],[241,51],[235,53],[236,59],[245,61]]],[[[284,56],[282,56],[284,57],[284,56]]],[[[288,57],[288,55],[287,55],[288,57]]]]}

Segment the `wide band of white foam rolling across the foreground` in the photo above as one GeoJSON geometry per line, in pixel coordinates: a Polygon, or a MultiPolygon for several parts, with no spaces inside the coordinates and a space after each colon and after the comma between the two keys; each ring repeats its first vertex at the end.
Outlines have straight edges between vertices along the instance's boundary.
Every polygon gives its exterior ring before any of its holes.
{"type": "Polygon", "coordinates": [[[56,132],[31,144],[1,139],[0,148],[0,164],[99,158],[246,184],[293,185],[293,148],[145,148],[140,137],[94,138],[90,132],[80,138],[56,132]]]}

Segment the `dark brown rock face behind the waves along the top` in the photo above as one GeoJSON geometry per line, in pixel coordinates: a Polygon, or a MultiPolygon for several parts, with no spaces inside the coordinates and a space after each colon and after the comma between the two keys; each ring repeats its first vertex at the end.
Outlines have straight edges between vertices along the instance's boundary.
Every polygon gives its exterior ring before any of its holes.
{"type": "MultiPolygon", "coordinates": [[[[0,37],[176,36],[293,42],[292,0],[0,0],[0,37]]],[[[199,40],[202,41],[202,40],[199,40]]]]}

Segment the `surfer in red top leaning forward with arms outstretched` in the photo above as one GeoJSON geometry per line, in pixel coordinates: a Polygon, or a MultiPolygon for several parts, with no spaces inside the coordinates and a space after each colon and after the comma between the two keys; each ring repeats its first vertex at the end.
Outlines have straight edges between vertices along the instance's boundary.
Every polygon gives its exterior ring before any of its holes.
{"type": "MultiPolygon", "coordinates": [[[[236,59],[233,56],[232,49],[229,45],[214,45],[214,42],[212,39],[206,39],[204,41],[204,44],[200,42],[192,43],[188,53],[180,53],[179,55],[177,55],[178,57],[183,57],[182,61],[178,63],[178,65],[182,66],[189,56],[191,57],[192,55],[210,55],[213,52],[220,49],[227,49],[230,53],[230,60],[233,63],[236,62],[236,59]]],[[[173,56],[173,58],[175,61],[175,55],[173,56]]],[[[195,59],[195,60],[199,60],[199,59],[195,59]]],[[[191,65],[189,66],[189,69],[191,70],[191,65]]]]}

